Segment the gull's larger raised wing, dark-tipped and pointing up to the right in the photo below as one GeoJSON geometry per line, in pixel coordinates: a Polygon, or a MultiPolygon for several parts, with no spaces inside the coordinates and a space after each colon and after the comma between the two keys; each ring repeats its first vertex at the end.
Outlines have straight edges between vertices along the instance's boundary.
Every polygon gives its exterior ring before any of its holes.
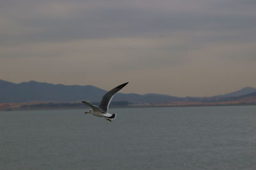
{"type": "Polygon", "coordinates": [[[111,89],[110,91],[108,91],[103,97],[102,100],[100,102],[99,108],[104,111],[104,112],[108,112],[108,107],[109,104],[113,98],[113,96],[122,88],[124,88],[124,86],[126,86],[126,84],[128,84],[128,82],[125,82],[124,84],[121,84],[119,86],[117,86],[116,88],[111,89]]]}

